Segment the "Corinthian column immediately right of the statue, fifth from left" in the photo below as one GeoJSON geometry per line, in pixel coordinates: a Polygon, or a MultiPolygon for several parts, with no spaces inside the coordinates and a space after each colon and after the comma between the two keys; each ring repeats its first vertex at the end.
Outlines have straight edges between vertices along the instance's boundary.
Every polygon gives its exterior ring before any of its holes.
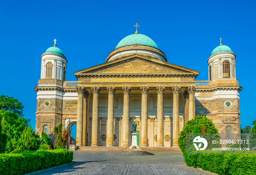
{"type": "Polygon", "coordinates": [[[149,86],[140,86],[141,102],[141,147],[147,147],[147,93],[149,86]]]}

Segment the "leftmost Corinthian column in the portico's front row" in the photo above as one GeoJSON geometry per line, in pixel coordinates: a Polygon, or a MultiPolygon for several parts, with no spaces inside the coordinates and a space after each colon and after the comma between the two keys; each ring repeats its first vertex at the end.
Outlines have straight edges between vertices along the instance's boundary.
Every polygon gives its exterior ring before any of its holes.
{"type": "Polygon", "coordinates": [[[82,146],[83,138],[83,96],[84,96],[84,87],[76,86],[76,91],[78,93],[77,101],[77,117],[76,117],[76,145],[82,146]]]}

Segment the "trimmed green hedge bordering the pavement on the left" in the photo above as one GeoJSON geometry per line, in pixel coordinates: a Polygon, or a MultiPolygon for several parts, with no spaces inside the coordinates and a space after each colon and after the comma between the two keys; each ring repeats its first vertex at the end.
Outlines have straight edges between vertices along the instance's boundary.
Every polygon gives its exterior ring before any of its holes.
{"type": "Polygon", "coordinates": [[[25,151],[0,154],[0,174],[20,175],[72,162],[73,152],[67,149],[25,151]]]}

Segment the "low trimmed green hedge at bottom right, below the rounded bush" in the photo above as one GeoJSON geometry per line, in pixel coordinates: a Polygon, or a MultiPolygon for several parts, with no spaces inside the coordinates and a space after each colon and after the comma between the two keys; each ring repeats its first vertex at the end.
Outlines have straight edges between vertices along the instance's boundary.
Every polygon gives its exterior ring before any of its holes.
{"type": "Polygon", "coordinates": [[[188,166],[221,175],[256,174],[256,154],[184,154],[188,166]]]}

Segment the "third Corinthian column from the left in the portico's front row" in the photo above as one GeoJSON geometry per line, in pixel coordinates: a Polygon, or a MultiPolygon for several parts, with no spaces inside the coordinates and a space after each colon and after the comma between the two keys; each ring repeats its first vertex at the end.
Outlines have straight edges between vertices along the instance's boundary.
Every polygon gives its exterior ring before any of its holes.
{"type": "Polygon", "coordinates": [[[109,94],[108,101],[108,125],[107,125],[107,147],[113,147],[113,136],[114,136],[114,93],[116,92],[115,86],[107,86],[109,94]]]}

